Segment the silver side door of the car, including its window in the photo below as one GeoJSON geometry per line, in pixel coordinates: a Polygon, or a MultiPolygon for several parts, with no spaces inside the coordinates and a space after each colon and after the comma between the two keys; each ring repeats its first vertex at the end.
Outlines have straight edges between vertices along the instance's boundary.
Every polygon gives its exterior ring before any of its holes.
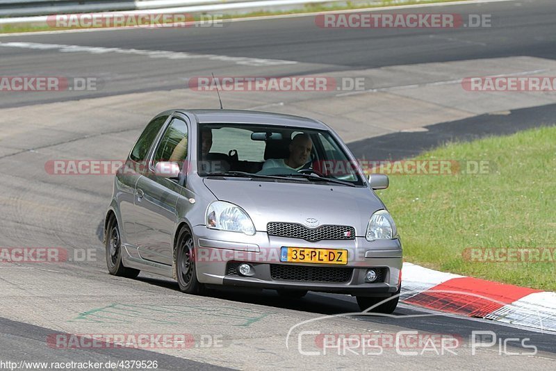
{"type": "Polygon", "coordinates": [[[180,167],[188,154],[188,124],[185,119],[172,117],[158,140],[149,161],[149,170],[138,179],[134,200],[135,240],[142,258],[165,265],[172,265],[172,233],[177,221],[176,205],[182,187],[177,179],[168,179],[156,174],[154,167],[160,161],[171,158],[178,146],[186,145],[186,153],[179,162],[180,167]]]}

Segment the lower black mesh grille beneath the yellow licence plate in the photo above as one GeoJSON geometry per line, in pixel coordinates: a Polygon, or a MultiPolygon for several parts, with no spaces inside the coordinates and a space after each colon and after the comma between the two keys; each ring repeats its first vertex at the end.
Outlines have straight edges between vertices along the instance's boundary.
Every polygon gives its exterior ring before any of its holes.
{"type": "Polygon", "coordinates": [[[347,282],[352,274],[353,268],[270,265],[270,277],[284,281],[347,282]]]}

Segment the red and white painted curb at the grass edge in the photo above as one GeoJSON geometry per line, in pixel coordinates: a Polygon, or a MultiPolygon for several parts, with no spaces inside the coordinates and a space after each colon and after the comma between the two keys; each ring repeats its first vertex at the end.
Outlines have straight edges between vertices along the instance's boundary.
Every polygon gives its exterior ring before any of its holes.
{"type": "Polygon", "coordinates": [[[556,331],[556,292],[464,277],[406,262],[402,277],[400,299],[404,303],[556,331]]]}

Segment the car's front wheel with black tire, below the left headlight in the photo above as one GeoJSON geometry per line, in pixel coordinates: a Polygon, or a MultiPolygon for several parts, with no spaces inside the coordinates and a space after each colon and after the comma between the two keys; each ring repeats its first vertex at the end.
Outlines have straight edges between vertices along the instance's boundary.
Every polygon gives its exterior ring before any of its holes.
{"type": "Polygon", "coordinates": [[[176,267],[179,290],[187,294],[199,295],[204,292],[204,285],[197,279],[195,264],[195,246],[193,236],[188,229],[179,232],[176,246],[176,267]]]}

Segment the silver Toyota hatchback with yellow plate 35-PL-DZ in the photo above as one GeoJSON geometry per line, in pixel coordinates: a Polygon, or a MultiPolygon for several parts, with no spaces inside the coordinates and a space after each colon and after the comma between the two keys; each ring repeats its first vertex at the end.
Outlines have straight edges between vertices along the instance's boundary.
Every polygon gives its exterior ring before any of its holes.
{"type": "Polygon", "coordinates": [[[375,190],[332,129],[247,110],[168,110],[118,170],[104,223],[108,272],[211,286],[354,295],[391,313],[402,245],[375,190]],[[387,298],[389,300],[384,301],[387,298]],[[383,302],[384,301],[384,302],[383,302]]]}

